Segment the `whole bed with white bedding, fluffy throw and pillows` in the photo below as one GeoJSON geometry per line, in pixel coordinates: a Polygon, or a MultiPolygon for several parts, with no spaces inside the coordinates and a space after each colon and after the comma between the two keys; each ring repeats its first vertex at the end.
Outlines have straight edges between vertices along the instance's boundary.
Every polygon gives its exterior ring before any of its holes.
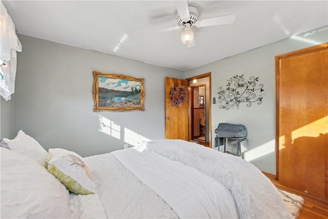
{"type": "Polygon", "coordinates": [[[1,143],[1,218],[293,218],[255,166],[182,140],[89,157],[1,143]]]}

